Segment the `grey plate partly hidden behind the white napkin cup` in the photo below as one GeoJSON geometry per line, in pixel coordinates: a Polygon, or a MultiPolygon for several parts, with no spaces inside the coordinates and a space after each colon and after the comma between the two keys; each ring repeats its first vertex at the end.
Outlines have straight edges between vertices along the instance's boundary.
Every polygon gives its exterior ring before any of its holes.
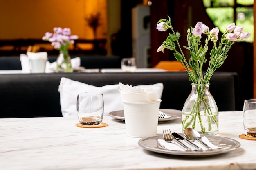
{"type": "MultiPolygon", "coordinates": [[[[158,122],[165,122],[169,120],[175,120],[177,118],[181,118],[181,110],[175,110],[175,109],[159,109],[159,111],[162,111],[166,113],[168,118],[158,118],[158,122]]],[[[118,110],[118,111],[112,111],[108,113],[108,116],[115,118],[115,119],[121,119],[124,120],[124,110],[118,110]]]]}

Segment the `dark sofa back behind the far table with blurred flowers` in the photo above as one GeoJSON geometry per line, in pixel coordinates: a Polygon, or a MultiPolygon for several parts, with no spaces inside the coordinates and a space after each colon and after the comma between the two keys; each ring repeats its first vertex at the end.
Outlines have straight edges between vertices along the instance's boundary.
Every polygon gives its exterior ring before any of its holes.
{"type": "MultiPolygon", "coordinates": [[[[121,57],[119,56],[71,56],[80,57],[81,67],[85,68],[121,68],[121,57]]],[[[48,56],[50,63],[56,61],[57,56],[48,56]]],[[[0,70],[21,70],[20,57],[0,57],[0,70]]]]}

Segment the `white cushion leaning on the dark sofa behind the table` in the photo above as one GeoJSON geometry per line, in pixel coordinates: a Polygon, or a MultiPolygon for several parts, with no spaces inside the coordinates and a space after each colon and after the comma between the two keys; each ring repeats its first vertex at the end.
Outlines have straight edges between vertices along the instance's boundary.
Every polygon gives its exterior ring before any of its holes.
{"type": "MultiPolygon", "coordinates": [[[[138,85],[135,87],[140,87],[141,89],[153,88],[153,91],[157,92],[159,99],[161,99],[164,85],[163,83],[157,83],[154,85],[138,85]]],[[[104,115],[108,115],[111,111],[123,110],[124,107],[119,89],[119,84],[96,87],[62,77],[58,88],[60,92],[62,116],[76,116],[77,94],[85,92],[103,94],[104,115]]]]}

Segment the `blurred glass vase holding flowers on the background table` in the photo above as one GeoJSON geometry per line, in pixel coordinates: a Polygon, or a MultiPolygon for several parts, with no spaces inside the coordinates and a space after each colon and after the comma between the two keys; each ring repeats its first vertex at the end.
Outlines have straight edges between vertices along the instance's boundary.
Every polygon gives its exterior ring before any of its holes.
{"type": "Polygon", "coordinates": [[[73,72],[71,57],[68,54],[68,50],[60,50],[56,63],[56,72],[73,72]]]}

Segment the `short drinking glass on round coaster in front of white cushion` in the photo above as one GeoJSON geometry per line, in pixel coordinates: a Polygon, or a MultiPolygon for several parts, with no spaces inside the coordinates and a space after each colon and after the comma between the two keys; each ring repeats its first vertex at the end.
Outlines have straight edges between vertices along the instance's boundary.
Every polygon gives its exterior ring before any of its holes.
{"type": "Polygon", "coordinates": [[[103,119],[104,102],[101,93],[77,95],[77,116],[82,125],[100,125],[103,119]]]}

